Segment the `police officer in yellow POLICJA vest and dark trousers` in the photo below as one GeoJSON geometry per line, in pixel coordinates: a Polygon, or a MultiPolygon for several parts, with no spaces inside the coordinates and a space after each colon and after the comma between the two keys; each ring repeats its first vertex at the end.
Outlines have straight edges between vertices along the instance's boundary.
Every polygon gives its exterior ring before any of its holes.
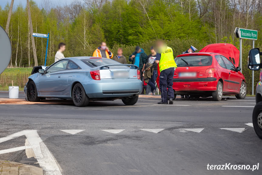
{"type": "Polygon", "coordinates": [[[173,50],[168,47],[163,40],[156,41],[156,63],[159,63],[160,76],[159,88],[161,90],[162,101],[158,104],[173,104],[174,91],[173,91],[173,77],[175,68],[177,67],[174,61],[173,50]]]}

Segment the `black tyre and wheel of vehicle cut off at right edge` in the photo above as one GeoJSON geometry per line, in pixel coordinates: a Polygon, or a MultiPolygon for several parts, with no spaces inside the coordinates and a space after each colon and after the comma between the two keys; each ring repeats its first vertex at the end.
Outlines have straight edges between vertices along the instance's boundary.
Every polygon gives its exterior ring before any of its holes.
{"type": "Polygon", "coordinates": [[[254,107],[252,121],[257,136],[262,139],[262,102],[257,103],[254,107]]]}

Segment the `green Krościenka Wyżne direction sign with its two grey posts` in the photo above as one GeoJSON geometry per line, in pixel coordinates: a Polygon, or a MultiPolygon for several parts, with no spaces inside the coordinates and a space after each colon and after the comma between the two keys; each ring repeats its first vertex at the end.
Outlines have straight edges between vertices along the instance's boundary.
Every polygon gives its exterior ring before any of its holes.
{"type": "MultiPolygon", "coordinates": [[[[257,40],[257,30],[242,29],[236,27],[236,37],[239,38],[239,65],[242,72],[242,39],[253,40],[253,48],[255,48],[255,40],[257,40]]],[[[254,71],[252,71],[252,95],[254,95],[254,71]]]]}

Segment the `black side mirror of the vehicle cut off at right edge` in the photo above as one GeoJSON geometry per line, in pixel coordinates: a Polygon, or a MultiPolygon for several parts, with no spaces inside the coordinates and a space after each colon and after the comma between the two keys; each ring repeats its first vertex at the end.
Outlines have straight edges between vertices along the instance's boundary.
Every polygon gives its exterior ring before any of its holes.
{"type": "Polygon", "coordinates": [[[259,48],[254,48],[249,51],[248,54],[248,68],[253,71],[258,71],[260,69],[261,59],[259,48]]]}

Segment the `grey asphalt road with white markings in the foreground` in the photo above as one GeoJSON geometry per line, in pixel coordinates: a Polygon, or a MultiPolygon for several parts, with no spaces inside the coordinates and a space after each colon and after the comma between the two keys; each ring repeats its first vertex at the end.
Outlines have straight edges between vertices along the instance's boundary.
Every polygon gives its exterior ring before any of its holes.
{"type": "Polygon", "coordinates": [[[23,105],[0,100],[0,159],[39,166],[46,174],[261,174],[262,165],[254,171],[207,170],[208,164],[262,163],[262,140],[250,125],[255,98],[157,105],[160,100],[140,96],[134,106],[115,100],[83,108],[71,100],[23,105]]]}

